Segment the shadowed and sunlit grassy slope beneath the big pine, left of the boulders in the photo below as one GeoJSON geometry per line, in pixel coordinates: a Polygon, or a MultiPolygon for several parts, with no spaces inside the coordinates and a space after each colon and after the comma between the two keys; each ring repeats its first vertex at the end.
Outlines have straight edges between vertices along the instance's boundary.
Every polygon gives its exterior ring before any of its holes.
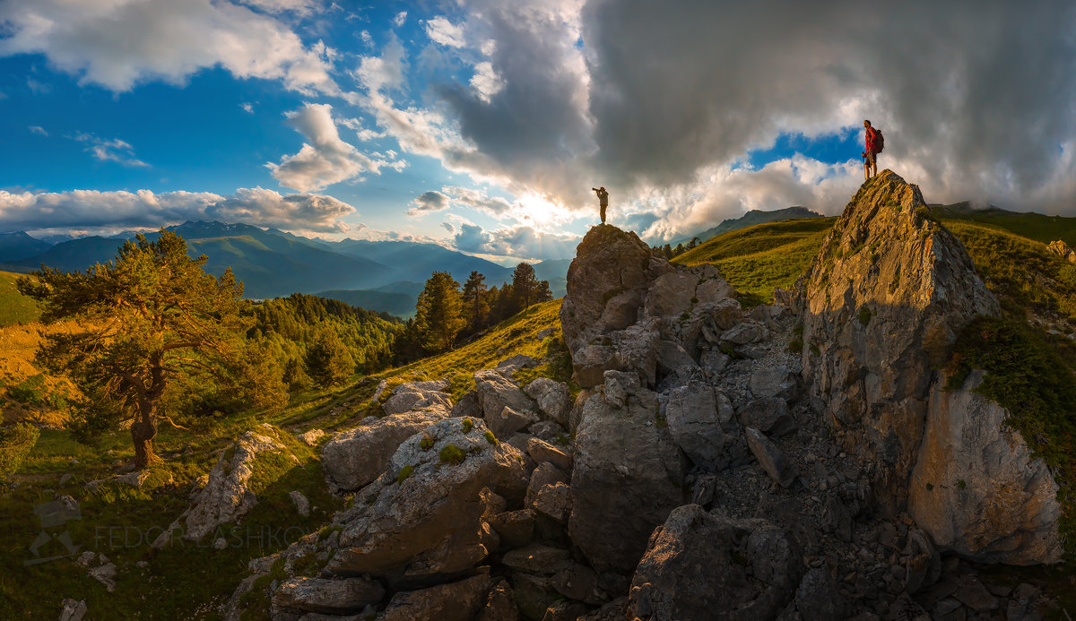
{"type": "MultiPolygon", "coordinates": [[[[301,460],[298,465],[278,460],[279,478],[258,492],[259,504],[243,521],[236,536],[227,536],[224,550],[202,543],[154,552],[151,539],[187,506],[190,481],[208,473],[231,441],[259,422],[270,422],[289,433],[320,428],[354,427],[358,420],[379,410],[369,399],[381,378],[390,385],[408,379],[452,375],[456,396],[473,387],[471,374],[491,367],[500,360],[526,353],[550,356],[552,362],[524,370],[516,377],[527,381],[538,375],[566,379],[570,363],[561,338],[561,302],[555,300],[532,306],[527,312],[490,329],[480,338],[454,351],[430,357],[400,369],[388,370],[336,391],[311,391],[293,398],[281,413],[247,411],[226,420],[206,420],[190,430],[162,423],[155,441],[166,462],[155,475],[161,482],[144,491],[103,487],[90,492],[84,483],[116,472],[131,463],[133,450],[125,432],[105,435],[98,447],[73,441],[67,431],[43,430],[38,445],[15,475],[18,486],[0,491],[0,619],[56,618],[63,597],[86,600],[89,617],[116,619],[216,619],[216,607],[235,590],[245,574],[250,559],[282,549],[300,535],[324,524],[328,515],[342,507],[325,488],[317,451],[305,449],[288,439],[301,460]],[[539,337],[538,332],[553,332],[539,337]],[[70,480],[59,478],[70,473],[70,480]],[[301,490],[314,507],[310,518],[300,518],[287,497],[291,490],[301,490]],[[33,512],[36,504],[52,501],[55,494],[68,494],[80,503],[82,518],[53,534],[71,534],[80,552],[102,552],[119,566],[114,593],[89,578],[86,571],[70,559],[59,559],[25,566],[33,559],[29,545],[40,531],[33,512]],[[236,537],[244,537],[239,539],[236,537]],[[148,563],[146,568],[136,565],[148,563]]],[[[270,462],[273,463],[273,462],[270,462]]],[[[0,487],[2,489],[2,487],[0,487]]],[[[49,544],[53,552],[62,547],[49,544]]],[[[44,550],[44,549],[43,549],[44,550]]]]}

